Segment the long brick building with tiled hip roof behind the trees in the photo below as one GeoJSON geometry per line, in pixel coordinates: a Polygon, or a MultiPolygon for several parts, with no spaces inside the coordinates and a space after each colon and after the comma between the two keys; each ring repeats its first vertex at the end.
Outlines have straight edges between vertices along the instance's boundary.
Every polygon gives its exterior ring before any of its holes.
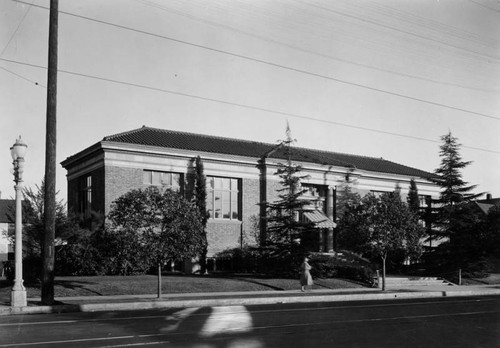
{"type": "MultiPolygon", "coordinates": [[[[105,215],[118,197],[150,185],[182,192],[197,156],[207,179],[207,256],[255,243],[266,230],[260,203],[277,199],[281,185],[274,173],[287,161],[277,144],[146,126],[106,136],[61,163],[67,170],[68,209],[105,215]]],[[[398,186],[405,196],[413,178],[423,202],[439,196],[439,187],[429,180],[432,173],[383,158],[292,147],[291,160],[308,175],[302,186],[316,201],[304,218],[318,227],[317,251],[334,249],[337,187],[346,176],[361,195],[398,186]]]]}

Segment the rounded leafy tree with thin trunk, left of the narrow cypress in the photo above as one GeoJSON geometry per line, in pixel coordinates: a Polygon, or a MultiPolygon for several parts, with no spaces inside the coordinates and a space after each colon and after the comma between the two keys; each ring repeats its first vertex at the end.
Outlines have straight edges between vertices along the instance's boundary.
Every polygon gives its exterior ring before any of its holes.
{"type": "Polygon", "coordinates": [[[151,267],[157,266],[158,297],[162,265],[196,257],[206,247],[199,210],[171,190],[162,193],[154,186],[131,190],[113,203],[108,217],[114,230],[137,235],[133,247],[143,250],[151,267]]]}

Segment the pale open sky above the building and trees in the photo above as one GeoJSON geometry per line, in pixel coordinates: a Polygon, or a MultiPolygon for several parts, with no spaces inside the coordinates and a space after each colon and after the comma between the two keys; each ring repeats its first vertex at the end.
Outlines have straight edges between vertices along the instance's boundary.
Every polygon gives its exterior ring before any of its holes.
{"type": "MultiPolygon", "coordinates": [[[[0,0],[0,191],[45,169],[48,0],[0,0]],[[1,150],[3,149],[3,150],[1,150]]],[[[383,157],[433,172],[451,132],[463,179],[500,197],[500,2],[59,1],[64,159],[143,125],[383,157]]]]}

